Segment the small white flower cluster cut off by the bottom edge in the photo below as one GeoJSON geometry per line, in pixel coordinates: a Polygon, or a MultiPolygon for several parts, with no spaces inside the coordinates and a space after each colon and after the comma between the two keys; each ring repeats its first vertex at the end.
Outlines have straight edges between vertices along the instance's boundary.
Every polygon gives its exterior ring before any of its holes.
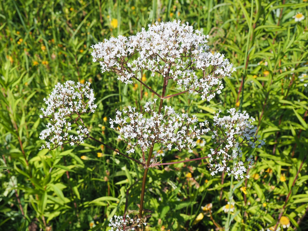
{"type": "Polygon", "coordinates": [[[146,222],[142,222],[140,218],[132,219],[128,215],[126,215],[125,219],[123,216],[114,216],[109,220],[109,227],[111,227],[111,231],[131,231],[136,230],[137,227],[141,227],[141,225],[147,225],[146,222]],[[113,220],[114,218],[114,220],[113,220]]]}

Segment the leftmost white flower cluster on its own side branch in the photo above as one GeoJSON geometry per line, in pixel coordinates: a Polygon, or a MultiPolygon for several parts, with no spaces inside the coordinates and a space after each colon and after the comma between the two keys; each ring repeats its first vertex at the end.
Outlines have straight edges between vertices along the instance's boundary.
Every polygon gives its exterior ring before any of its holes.
{"type": "Polygon", "coordinates": [[[94,104],[93,90],[89,86],[88,82],[85,85],[81,83],[75,85],[74,81],[67,81],[64,85],[57,83],[49,98],[44,98],[47,107],[41,108],[43,115],[40,115],[40,118],[49,118],[50,123],[40,133],[39,138],[48,139],[49,142],[46,142],[41,149],[54,149],[63,144],[73,146],[84,142],[89,132],[84,125],[77,124],[77,120],[81,120],[81,114],[94,112],[97,107],[94,104]],[[74,123],[77,124],[77,135],[69,134],[74,123]]]}

